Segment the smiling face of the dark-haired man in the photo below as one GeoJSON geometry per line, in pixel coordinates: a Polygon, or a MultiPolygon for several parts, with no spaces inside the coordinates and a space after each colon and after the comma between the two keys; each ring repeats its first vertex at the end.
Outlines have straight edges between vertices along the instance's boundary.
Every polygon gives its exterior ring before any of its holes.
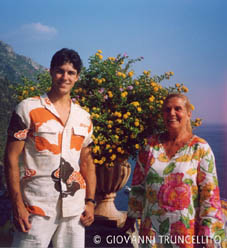
{"type": "Polygon", "coordinates": [[[52,89],[61,95],[69,95],[71,89],[79,79],[77,70],[72,63],[65,63],[50,71],[52,77],[52,89]]]}

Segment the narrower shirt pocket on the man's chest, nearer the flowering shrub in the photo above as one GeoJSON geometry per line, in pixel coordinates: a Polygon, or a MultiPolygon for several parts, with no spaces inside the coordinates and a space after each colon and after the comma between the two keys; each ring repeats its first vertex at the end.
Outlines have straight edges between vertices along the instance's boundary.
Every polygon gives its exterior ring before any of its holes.
{"type": "Polygon", "coordinates": [[[72,130],[73,132],[70,141],[70,149],[80,151],[88,134],[87,129],[85,127],[74,126],[72,130]]]}

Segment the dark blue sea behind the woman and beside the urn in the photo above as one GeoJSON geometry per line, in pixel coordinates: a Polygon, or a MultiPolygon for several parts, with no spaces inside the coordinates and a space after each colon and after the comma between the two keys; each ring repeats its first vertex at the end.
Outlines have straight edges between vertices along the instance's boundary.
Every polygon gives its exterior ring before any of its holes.
{"type": "MultiPolygon", "coordinates": [[[[213,150],[216,169],[218,174],[218,182],[220,188],[220,196],[227,199],[227,124],[203,124],[197,127],[194,134],[205,139],[213,150]]],[[[135,167],[135,161],[129,159],[132,172],[127,184],[117,192],[115,198],[115,206],[118,210],[126,211],[128,208],[128,190],[132,182],[132,173],[135,167]]]]}

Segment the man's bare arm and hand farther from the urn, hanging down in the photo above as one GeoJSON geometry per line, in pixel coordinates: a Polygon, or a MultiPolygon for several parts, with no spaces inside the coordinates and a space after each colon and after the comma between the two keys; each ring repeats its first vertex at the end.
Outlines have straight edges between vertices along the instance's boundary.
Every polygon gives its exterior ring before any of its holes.
{"type": "Polygon", "coordinates": [[[24,141],[7,141],[5,149],[5,175],[13,207],[14,223],[22,232],[31,228],[27,211],[20,190],[19,156],[24,149],[24,141]]]}

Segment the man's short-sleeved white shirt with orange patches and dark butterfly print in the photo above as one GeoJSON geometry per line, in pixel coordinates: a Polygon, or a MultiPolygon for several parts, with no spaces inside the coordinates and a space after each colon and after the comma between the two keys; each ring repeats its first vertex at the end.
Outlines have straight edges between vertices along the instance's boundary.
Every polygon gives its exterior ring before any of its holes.
{"type": "Polygon", "coordinates": [[[53,216],[60,197],[63,217],[80,215],[86,191],[80,152],[92,142],[90,115],[71,102],[63,125],[46,94],[28,98],[17,105],[8,136],[25,141],[21,191],[28,210],[53,216]]]}

